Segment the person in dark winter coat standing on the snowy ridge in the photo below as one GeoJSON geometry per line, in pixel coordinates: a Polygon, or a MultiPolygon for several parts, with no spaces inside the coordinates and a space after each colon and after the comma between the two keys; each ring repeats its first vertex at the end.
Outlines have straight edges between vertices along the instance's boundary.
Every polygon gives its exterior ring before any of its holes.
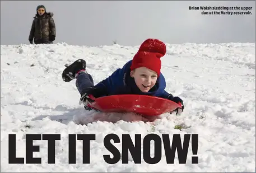
{"type": "Polygon", "coordinates": [[[29,42],[32,44],[53,44],[56,36],[55,22],[53,13],[46,12],[43,5],[36,7],[36,15],[32,22],[29,42]]]}

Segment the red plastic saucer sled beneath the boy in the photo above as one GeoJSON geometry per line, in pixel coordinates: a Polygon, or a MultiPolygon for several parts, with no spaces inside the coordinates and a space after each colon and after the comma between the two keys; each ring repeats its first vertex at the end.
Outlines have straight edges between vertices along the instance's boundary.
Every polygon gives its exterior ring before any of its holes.
{"type": "Polygon", "coordinates": [[[147,95],[113,95],[94,98],[92,100],[92,109],[100,110],[106,113],[137,113],[147,116],[157,116],[170,111],[174,111],[178,107],[176,102],[162,99],[155,96],[147,95]]]}

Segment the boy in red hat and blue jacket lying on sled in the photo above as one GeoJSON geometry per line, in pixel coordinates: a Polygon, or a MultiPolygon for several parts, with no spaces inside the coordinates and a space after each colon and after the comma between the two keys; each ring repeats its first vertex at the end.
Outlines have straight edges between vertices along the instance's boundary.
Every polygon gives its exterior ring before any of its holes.
{"type": "Polygon", "coordinates": [[[176,102],[180,107],[174,111],[181,114],[184,110],[183,100],[165,91],[166,82],[161,73],[160,59],[165,53],[166,45],[162,41],[147,39],[132,60],[97,85],[94,85],[93,78],[86,72],[86,61],[83,59],[76,60],[64,69],[62,78],[65,82],[76,79],[76,87],[81,94],[80,102],[85,106],[94,102],[90,96],[147,95],[176,102]]]}

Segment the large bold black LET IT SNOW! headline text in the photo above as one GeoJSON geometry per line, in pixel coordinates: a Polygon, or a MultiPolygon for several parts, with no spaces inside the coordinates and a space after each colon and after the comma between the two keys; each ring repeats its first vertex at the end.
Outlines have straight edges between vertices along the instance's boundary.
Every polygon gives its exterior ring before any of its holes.
{"type": "MultiPolygon", "coordinates": [[[[55,164],[55,141],[60,140],[60,134],[26,134],[26,157],[16,157],[16,134],[9,134],[8,161],[11,164],[41,164],[40,157],[33,157],[33,152],[40,152],[40,146],[33,145],[35,140],[48,141],[48,164],[55,164]]],[[[90,163],[90,141],[95,140],[96,134],[69,134],[68,135],[68,163],[76,163],[76,141],[82,141],[82,163],[90,163]]],[[[122,141],[117,134],[108,134],[104,138],[104,147],[112,153],[103,155],[104,161],[109,164],[118,163],[122,157],[122,163],[128,163],[128,153],[131,153],[134,163],[141,164],[141,157],[148,164],[156,164],[162,159],[162,146],[164,146],[167,164],[173,164],[175,154],[178,155],[180,164],[187,162],[189,142],[192,144],[192,163],[198,163],[198,134],[184,134],[181,142],[180,134],[173,134],[173,141],[170,141],[169,134],[162,134],[162,139],[157,134],[147,134],[141,140],[141,134],[135,134],[134,143],[129,134],[122,134],[122,141]],[[120,152],[110,141],[122,143],[120,152]],[[154,156],[151,157],[151,141],[154,142],[154,156]],[[182,144],[183,143],[183,144],[182,144]],[[142,152],[143,146],[143,152],[142,152]],[[177,151],[177,153],[176,153],[177,151]],[[142,154],[142,155],[141,155],[142,154]]],[[[46,162],[46,161],[44,161],[46,162]]]]}

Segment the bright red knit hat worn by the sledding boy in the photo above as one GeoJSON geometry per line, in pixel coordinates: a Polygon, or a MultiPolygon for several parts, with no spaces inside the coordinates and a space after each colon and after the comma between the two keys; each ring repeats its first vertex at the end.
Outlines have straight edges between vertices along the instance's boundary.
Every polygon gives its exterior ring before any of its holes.
{"type": "Polygon", "coordinates": [[[145,40],[132,60],[131,71],[139,67],[146,67],[160,76],[161,57],[166,53],[166,45],[157,39],[145,40]]]}

